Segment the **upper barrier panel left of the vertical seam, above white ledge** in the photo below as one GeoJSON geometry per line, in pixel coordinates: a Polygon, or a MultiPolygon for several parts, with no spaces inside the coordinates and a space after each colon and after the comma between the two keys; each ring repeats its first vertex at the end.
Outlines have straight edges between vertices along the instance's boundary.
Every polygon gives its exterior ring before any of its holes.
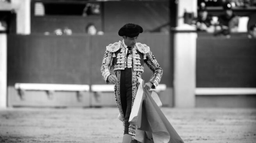
{"type": "Polygon", "coordinates": [[[90,84],[89,36],[8,36],[8,85],[90,84]]]}

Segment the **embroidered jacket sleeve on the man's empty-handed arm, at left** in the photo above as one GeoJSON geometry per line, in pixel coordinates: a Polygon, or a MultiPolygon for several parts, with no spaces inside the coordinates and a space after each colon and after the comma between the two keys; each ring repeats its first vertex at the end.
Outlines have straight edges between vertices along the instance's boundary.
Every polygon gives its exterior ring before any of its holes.
{"type": "Polygon", "coordinates": [[[101,65],[101,74],[107,84],[109,83],[108,76],[110,75],[110,69],[112,66],[111,57],[112,57],[112,53],[109,51],[106,51],[103,56],[102,65],[101,65]]]}

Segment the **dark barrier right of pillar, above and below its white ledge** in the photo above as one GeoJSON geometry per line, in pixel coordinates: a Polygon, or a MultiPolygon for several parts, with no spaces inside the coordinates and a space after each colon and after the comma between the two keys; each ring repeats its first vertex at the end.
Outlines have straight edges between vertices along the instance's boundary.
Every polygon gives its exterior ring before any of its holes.
{"type": "MultiPolygon", "coordinates": [[[[235,87],[247,91],[256,87],[256,40],[247,37],[198,37],[196,87],[235,87]]],[[[200,94],[196,107],[256,108],[256,95],[200,94]]]]}

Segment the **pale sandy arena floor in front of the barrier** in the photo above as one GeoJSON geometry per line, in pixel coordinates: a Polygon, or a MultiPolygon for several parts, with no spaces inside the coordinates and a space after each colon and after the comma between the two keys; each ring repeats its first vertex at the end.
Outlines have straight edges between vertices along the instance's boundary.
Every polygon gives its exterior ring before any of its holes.
{"type": "MultiPolygon", "coordinates": [[[[256,143],[256,109],[162,108],[185,143],[256,143]]],[[[117,108],[0,109],[0,143],[121,143],[117,108]]]]}

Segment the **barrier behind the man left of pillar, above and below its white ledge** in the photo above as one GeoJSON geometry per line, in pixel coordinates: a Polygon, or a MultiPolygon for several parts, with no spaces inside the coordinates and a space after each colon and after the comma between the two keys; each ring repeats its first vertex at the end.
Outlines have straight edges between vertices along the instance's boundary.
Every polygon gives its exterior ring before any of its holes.
{"type": "MultiPolygon", "coordinates": [[[[53,98],[45,91],[25,91],[24,97],[14,89],[15,83],[105,84],[100,67],[106,46],[122,40],[116,33],[105,35],[8,35],[8,106],[116,106],[113,94],[99,98],[92,92],[55,92],[53,98]],[[15,41],[15,42],[14,42],[15,41]],[[99,99],[98,99],[99,98],[99,99]],[[101,101],[100,104],[98,101],[101,101]]],[[[164,70],[161,84],[167,90],[160,95],[164,106],[172,106],[172,60],[169,35],[141,34],[138,42],[150,46],[164,70]]],[[[142,75],[149,80],[152,72],[142,75]]]]}

